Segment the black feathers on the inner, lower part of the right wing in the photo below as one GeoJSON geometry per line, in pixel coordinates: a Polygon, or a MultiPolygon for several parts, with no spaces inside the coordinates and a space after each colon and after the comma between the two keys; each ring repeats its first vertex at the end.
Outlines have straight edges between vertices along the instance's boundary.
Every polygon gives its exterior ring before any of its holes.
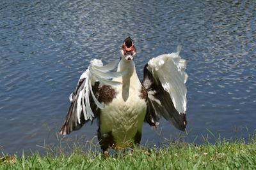
{"type": "Polygon", "coordinates": [[[144,67],[142,85],[148,92],[148,108],[145,122],[150,126],[156,127],[159,119],[163,116],[169,122],[181,131],[186,128],[186,113],[179,113],[172,102],[170,94],[166,92],[160,81],[156,80],[152,73],[147,69],[148,64],[144,67]]]}

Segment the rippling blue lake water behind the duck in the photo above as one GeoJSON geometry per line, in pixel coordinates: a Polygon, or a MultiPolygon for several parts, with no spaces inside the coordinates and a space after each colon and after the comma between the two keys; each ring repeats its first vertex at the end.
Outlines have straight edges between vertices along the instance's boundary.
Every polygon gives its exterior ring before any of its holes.
{"type": "MultiPolygon", "coordinates": [[[[3,0],[0,19],[0,152],[57,143],[79,76],[94,58],[118,59],[127,36],[140,78],[149,59],[177,45],[188,60],[188,134],[162,119],[157,131],[144,125],[142,144],[255,132],[256,1],[3,0]]],[[[96,131],[88,124],[70,138],[96,131]]]]}

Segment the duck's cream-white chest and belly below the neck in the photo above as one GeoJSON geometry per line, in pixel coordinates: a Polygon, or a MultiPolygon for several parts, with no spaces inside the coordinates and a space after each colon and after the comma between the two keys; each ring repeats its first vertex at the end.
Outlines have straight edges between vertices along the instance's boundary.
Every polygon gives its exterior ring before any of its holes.
{"type": "Polygon", "coordinates": [[[100,111],[100,133],[110,132],[116,143],[124,143],[141,132],[147,103],[141,98],[141,85],[130,87],[129,97],[124,100],[122,86],[116,87],[115,99],[100,111]],[[139,88],[140,87],[140,88],[139,88]]]}

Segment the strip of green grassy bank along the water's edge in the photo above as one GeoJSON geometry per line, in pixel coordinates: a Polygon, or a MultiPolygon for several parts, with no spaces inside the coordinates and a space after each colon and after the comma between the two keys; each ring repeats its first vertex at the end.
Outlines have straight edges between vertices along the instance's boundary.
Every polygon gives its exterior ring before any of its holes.
{"type": "Polygon", "coordinates": [[[4,155],[0,169],[256,169],[256,140],[205,143],[173,142],[162,148],[136,148],[104,158],[99,152],[4,155]]]}

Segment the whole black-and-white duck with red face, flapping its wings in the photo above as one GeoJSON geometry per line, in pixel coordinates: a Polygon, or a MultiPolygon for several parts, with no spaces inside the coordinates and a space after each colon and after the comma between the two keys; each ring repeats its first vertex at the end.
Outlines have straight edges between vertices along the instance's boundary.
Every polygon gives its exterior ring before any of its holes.
{"type": "Polygon", "coordinates": [[[140,144],[143,122],[156,128],[161,116],[184,131],[188,75],[179,46],[177,51],[149,60],[142,81],[136,73],[136,49],[130,37],[124,40],[120,60],[105,66],[101,60],[92,60],[76,91],[70,94],[71,104],[60,134],[69,134],[99,118],[98,139],[103,153],[108,154],[108,148],[140,144]],[[116,64],[117,71],[110,72],[116,64]]]}

